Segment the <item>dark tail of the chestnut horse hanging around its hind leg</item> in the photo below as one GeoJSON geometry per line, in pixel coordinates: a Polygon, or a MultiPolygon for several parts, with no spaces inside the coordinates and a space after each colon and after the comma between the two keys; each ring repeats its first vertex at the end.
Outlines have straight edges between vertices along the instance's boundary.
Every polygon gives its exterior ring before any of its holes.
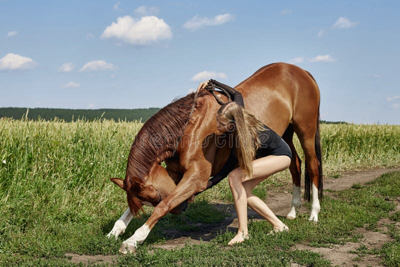
{"type": "MultiPolygon", "coordinates": [[[[311,74],[310,74],[311,75],[311,74]]],[[[311,76],[312,77],[312,76],[311,76]]],[[[318,198],[322,199],[323,197],[323,182],[322,182],[322,153],[321,153],[321,141],[319,135],[319,103],[318,102],[318,114],[316,117],[316,131],[315,131],[315,155],[318,159],[318,198]]],[[[305,160],[305,170],[304,170],[304,178],[305,178],[305,188],[304,188],[304,198],[309,201],[311,195],[311,181],[310,176],[307,171],[307,162],[305,160]]]]}

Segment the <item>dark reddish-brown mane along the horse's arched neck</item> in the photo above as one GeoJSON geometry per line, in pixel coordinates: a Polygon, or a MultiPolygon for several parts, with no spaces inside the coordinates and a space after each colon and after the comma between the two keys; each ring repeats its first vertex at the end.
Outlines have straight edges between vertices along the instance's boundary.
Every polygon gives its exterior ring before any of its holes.
{"type": "MultiPolygon", "coordinates": [[[[198,92],[193,112],[201,106],[199,97],[208,94],[206,90],[198,92]]],[[[154,162],[160,163],[172,156],[178,137],[183,134],[183,127],[189,119],[193,99],[194,92],[173,99],[140,128],[129,151],[124,181],[126,189],[133,182],[143,184],[154,162]]]]}

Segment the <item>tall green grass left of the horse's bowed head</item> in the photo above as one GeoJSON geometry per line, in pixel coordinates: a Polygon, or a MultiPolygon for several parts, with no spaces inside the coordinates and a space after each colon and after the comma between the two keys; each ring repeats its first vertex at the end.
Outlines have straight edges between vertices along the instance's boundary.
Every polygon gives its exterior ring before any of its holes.
{"type": "Polygon", "coordinates": [[[140,127],[112,120],[0,119],[0,251],[44,256],[33,252],[40,244],[57,254],[76,225],[84,232],[85,225],[121,213],[125,194],[108,178],[124,176],[140,127]]]}

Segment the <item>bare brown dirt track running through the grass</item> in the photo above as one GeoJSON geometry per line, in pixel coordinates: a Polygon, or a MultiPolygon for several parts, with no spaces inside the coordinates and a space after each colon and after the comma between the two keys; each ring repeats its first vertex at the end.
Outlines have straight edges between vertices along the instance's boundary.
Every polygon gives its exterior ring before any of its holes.
{"type": "MultiPolygon", "coordinates": [[[[324,189],[330,190],[343,190],[351,187],[354,183],[364,184],[368,181],[371,181],[381,174],[389,171],[400,171],[400,167],[397,168],[377,168],[371,170],[362,170],[362,171],[350,171],[345,172],[338,178],[332,177],[324,177],[323,187],[324,189]]],[[[303,190],[302,190],[303,192],[303,190]]],[[[399,200],[400,201],[400,200],[399,200]]],[[[285,216],[287,212],[290,210],[291,204],[291,192],[268,192],[267,195],[267,205],[269,208],[275,212],[277,216],[285,216]]],[[[237,231],[237,218],[236,212],[233,204],[214,204],[216,208],[223,210],[224,212],[231,214],[230,217],[225,217],[223,221],[217,224],[206,224],[206,223],[198,223],[200,225],[200,231],[190,231],[190,232],[181,232],[179,230],[169,230],[165,233],[166,236],[172,237],[167,240],[163,244],[153,245],[154,247],[159,247],[163,249],[174,249],[183,247],[185,244],[198,244],[202,242],[208,242],[217,232],[220,230],[225,231],[226,227],[230,231],[237,231]]],[[[397,205],[397,209],[400,208],[397,205]]],[[[309,210],[302,205],[299,209],[299,212],[309,212],[309,210]]],[[[262,220],[257,213],[248,209],[248,217],[253,220],[262,220]]],[[[385,219],[382,219],[378,222],[379,225],[384,230],[385,219]]],[[[319,252],[324,255],[325,258],[329,259],[332,262],[332,265],[343,265],[343,266],[353,266],[354,264],[358,264],[359,266],[378,266],[380,258],[373,257],[371,255],[367,255],[366,257],[361,258],[359,261],[355,262],[352,259],[356,257],[356,254],[348,253],[349,250],[356,250],[361,244],[365,244],[368,248],[380,247],[383,243],[388,242],[390,239],[389,236],[382,232],[372,232],[366,231],[363,228],[357,229],[358,232],[364,235],[364,240],[362,243],[351,243],[348,242],[345,245],[335,245],[332,247],[309,247],[304,244],[297,244],[295,246],[296,249],[306,249],[314,252],[319,252]]],[[[149,251],[151,253],[151,251],[149,251]]],[[[70,262],[79,263],[82,262],[87,264],[87,262],[109,262],[112,263],[115,261],[116,256],[106,256],[106,255],[78,255],[78,254],[66,254],[66,256],[70,257],[70,262]]],[[[299,266],[298,264],[293,264],[293,266],[299,266]]]]}

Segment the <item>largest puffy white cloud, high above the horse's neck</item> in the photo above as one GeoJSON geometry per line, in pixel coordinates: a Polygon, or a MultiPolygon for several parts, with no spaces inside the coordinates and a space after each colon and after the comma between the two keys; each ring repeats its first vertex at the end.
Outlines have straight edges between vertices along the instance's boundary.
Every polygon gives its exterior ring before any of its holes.
{"type": "Polygon", "coordinates": [[[130,16],[118,17],[107,26],[101,38],[117,38],[130,44],[144,45],[172,37],[169,25],[156,16],[143,16],[134,19],[130,16]]]}

